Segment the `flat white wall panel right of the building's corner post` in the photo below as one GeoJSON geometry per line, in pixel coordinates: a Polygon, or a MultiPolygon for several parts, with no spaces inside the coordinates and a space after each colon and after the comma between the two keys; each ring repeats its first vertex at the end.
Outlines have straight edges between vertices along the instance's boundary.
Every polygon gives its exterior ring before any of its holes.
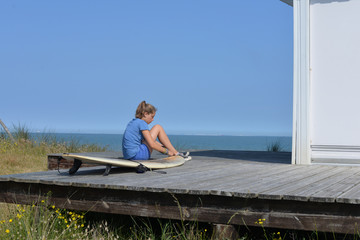
{"type": "Polygon", "coordinates": [[[314,161],[360,163],[359,25],[360,0],[310,0],[310,145],[314,161]]]}

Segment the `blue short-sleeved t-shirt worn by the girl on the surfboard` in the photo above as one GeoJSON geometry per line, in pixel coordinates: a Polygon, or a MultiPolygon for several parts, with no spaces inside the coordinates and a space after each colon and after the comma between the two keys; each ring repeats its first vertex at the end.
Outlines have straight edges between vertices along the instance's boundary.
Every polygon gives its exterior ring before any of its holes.
{"type": "Polygon", "coordinates": [[[123,155],[125,159],[135,157],[140,149],[144,136],[142,135],[143,130],[149,130],[148,124],[139,118],[131,120],[124,132],[123,136],[123,155]]]}

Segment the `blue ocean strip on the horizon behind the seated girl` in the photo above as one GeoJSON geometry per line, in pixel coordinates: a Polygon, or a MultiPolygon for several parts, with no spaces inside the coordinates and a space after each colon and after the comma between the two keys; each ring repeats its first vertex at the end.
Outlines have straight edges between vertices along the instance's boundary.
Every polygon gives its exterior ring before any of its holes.
{"type": "MultiPolygon", "coordinates": [[[[42,133],[35,133],[34,137],[42,133]]],[[[121,151],[122,134],[81,134],[52,133],[56,139],[76,140],[80,144],[97,144],[109,151],[121,151]]],[[[267,147],[278,142],[282,151],[291,152],[291,137],[276,136],[212,136],[212,135],[169,135],[174,147],[183,150],[245,150],[266,151],[267,147]]]]}

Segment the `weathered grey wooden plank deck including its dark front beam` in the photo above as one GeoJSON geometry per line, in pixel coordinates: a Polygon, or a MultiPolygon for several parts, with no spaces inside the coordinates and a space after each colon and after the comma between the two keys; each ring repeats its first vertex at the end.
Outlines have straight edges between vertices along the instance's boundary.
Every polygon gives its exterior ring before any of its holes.
{"type": "MultiPolygon", "coordinates": [[[[98,153],[103,155],[104,153],[98,153]]],[[[117,153],[107,153],[109,156],[117,153]]],[[[350,233],[360,224],[360,168],[291,165],[290,153],[197,151],[181,167],[137,174],[104,166],[0,176],[0,201],[125,215],[350,233]]],[[[57,155],[49,156],[56,160],[57,155]]],[[[156,156],[155,156],[156,157],[156,156]]]]}

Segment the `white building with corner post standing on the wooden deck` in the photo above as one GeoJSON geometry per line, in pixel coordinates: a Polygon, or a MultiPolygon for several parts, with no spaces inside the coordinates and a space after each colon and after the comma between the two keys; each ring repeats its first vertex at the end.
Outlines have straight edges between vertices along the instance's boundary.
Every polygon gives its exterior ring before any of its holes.
{"type": "Polygon", "coordinates": [[[360,0],[294,8],[295,164],[360,164],[360,0]]]}

